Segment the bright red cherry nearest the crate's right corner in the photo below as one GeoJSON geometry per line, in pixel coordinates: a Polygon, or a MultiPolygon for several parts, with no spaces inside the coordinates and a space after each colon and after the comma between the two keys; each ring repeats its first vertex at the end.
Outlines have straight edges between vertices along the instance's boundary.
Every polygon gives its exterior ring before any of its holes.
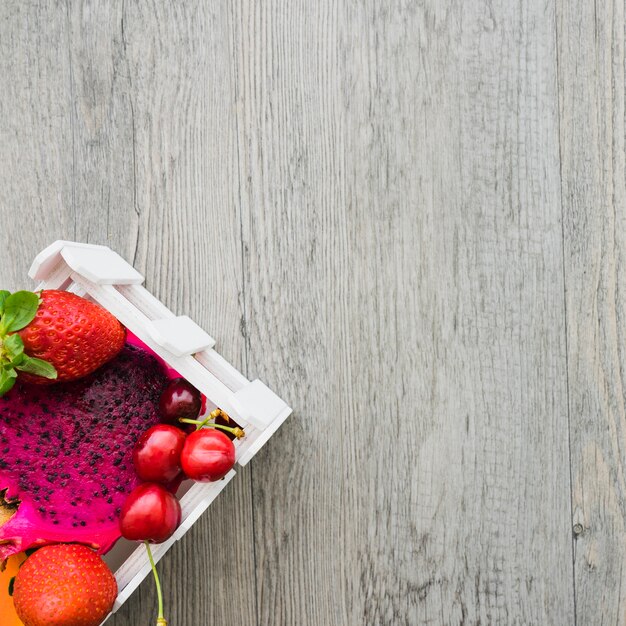
{"type": "Polygon", "coordinates": [[[224,478],[233,468],[235,446],[219,430],[196,430],[185,441],[180,464],[189,478],[204,483],[213,482],[224,478]]]}

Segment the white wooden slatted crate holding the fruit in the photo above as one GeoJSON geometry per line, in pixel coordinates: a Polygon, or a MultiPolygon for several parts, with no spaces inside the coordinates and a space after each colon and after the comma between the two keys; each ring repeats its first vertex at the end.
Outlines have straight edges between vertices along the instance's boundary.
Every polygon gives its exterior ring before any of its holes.
{"type": "MultiPolygon", "coordinates": [[[[176,316],[143,286],[143,276],[106,246],[56,241],[37,255],[29,276],[37,289],[63,289],[101,304],[133,334],[207,397],[207,412],[219,407],[246,431],[235,440],[245,465],[291,413],[260,380],[249,381],[214,349],[215,340],[187,316],[176,316]]],[[[154,546],[158,561],[180,539],[235,475],[216,483],[185,481],[178,496],[182,523],[174,536],[154,546]]],[[[105,555],[119,594],[115,613],[150,573],[145,548],[121,539],[105,555]]],[[[108,618],[107,618],[108,619],[108,618]]],[[[106,621],[106,620],[105,620],[106,621]]]]}

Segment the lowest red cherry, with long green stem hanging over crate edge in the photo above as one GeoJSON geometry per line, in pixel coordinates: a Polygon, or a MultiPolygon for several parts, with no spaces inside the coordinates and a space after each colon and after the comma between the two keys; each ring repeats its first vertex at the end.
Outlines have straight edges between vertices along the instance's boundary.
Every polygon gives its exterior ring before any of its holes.
{"type": "Polygon", "coordinates": [[[144,483],[130,492],[120,513],[122,537],[131,541],[163,543],[178,528],[180,503],[157,483],[144,483]]]}

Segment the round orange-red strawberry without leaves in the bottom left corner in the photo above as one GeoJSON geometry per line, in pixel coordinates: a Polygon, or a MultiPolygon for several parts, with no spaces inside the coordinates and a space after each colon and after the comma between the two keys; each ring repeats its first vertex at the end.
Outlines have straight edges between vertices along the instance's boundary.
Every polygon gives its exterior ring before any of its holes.
{"type": "Polygon", "coordinates": [[[98,626],[116,597],[117,583],[106,563],[78,544],[37,550],[20,568],[13,588],[25,626],[98,626]]]}

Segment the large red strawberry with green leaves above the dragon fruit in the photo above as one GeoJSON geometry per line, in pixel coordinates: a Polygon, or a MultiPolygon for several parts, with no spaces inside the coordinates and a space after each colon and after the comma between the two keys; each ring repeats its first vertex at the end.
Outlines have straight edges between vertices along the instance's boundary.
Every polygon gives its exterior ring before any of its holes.
{"type": "Polygon", "coordinates": [[[0,395],[29,383],[82,378],[122,349],[124,327],[106,309],[67,291],[0,291],[0,395]]]}

